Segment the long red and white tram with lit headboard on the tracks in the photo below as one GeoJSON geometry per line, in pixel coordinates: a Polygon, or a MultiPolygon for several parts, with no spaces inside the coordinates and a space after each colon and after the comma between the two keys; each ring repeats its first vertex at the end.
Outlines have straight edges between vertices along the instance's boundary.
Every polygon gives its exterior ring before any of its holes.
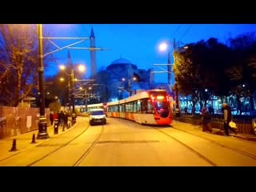
{"type": "Polygon", "coordinates": [[[170,125],[172,106],[166,90],[145,90],[116,102],[107,102],[107,117],[145,125],[170,125]]]}

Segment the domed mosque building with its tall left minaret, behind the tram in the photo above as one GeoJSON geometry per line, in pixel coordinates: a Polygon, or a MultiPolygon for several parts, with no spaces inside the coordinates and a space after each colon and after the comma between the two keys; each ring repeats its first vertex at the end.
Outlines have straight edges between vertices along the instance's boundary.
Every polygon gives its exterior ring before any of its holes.
{"type": "MultiPolygon", "coordinates": [[[[172,94],[168,83],[154,82],[153,69],[139,69],[137,65],[126,58],[117,58],[106,66],[106,70],[97,70],[96,51],[102,50],[95,46],[95,35],[93,28],[90,32],[90,79],[94,79],[94,84],[99,86],[91,91],[90,95],[97,97],[106,94],[106,97],[100,102],[111,102],[130,95],[136,94],[142,90],[165,89],[172,94]],[[103,93],[104,92],[104,93],[103,93]],[[107,92],[107,93],[106,93],[107,92]]],[[[89,98],[90,99],[90,98],[89,98]]]]}

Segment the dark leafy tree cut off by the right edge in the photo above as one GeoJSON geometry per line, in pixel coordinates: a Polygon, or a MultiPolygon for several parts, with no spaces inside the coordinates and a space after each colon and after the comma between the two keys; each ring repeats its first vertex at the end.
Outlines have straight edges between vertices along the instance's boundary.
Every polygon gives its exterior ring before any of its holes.
{"type": "MultiPolygon", "coordinates": [[[[256,35],[255,33],[238,35],[230,39],[233,50],[234,66],[226,74],[233,82],[231,91],[236,95],[238,106],[240,98],[250,98],[250,109],[254,110],[253,94],[256,90],[256,35]]],[[[239,109],[241,111],[241,109],[239,109]]]]}

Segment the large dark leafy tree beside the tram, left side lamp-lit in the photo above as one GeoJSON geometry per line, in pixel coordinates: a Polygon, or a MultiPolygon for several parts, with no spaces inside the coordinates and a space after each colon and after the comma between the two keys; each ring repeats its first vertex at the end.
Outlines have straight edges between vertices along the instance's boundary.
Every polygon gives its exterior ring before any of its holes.
{"type": "Polygon", "coordinates": [[[206,105],[213,94],[229,94],[230,79],[225,75],[225,69],[230,66],[231,53],[230,48],[216,38],[190,43],[186,50],[174,52],[178,90],[191,96],[192,110],[196,102],[201,107],[206,105]]]}

